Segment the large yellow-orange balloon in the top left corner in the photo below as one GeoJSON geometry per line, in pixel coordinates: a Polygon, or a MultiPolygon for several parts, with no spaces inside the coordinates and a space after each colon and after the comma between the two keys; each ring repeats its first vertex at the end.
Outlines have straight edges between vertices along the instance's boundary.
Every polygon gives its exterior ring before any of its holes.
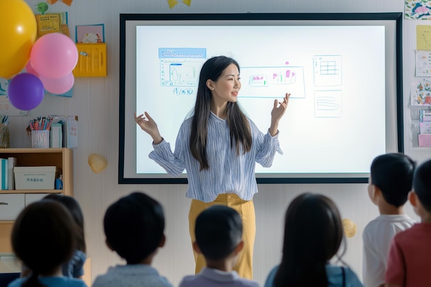
{"type": "Polygon", "coordinates": [[[30,59],[37,24],[32,8],[23,0],[0,0],[0,11],[0,78],[10,78],[30,59]]]}

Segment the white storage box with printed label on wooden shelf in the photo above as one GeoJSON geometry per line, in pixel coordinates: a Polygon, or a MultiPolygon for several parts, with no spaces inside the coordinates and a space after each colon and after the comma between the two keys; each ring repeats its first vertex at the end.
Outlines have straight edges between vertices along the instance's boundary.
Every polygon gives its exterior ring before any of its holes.
{"type": "Polygon", "coordinates": [[[58,167],[14,167],[15,189],[54,189],[58,167]]]}

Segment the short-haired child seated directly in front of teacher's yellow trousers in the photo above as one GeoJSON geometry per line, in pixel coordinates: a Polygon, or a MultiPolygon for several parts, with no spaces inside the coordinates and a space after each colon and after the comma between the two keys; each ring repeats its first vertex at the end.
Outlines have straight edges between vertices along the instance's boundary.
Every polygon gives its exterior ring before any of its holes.
{"type": "Polygon", "coordinates": [[[195,234],[193,248],[204,256],[207,267],[198,275],[184,277],[180,287],[259,286],[233,270],[244,247],[242,220],[235,209],[224,205],[205,209],[196,218],[195,234]]]}

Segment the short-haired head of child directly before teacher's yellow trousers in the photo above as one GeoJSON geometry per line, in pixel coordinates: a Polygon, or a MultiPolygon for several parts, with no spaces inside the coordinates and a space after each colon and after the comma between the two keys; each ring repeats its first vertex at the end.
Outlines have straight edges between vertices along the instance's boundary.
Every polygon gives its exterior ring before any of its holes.
{"type": "Polygon", "coordinates": [[[240,214],[229,206],[213,205],[196,218],[195,234],[205,259],[224,259],[241,242],[240,214]]]}

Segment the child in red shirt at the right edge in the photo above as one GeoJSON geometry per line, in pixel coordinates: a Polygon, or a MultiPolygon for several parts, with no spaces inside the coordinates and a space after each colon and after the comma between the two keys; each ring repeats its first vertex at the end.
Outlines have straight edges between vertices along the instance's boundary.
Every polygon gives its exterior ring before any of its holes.
{"type": "Polygon", "coordinates": [[[425,287],[431,284],[431,160],[414,171],[408,195],[421,223],[392,239],[386,269],[386,286],[425,287]]]}

